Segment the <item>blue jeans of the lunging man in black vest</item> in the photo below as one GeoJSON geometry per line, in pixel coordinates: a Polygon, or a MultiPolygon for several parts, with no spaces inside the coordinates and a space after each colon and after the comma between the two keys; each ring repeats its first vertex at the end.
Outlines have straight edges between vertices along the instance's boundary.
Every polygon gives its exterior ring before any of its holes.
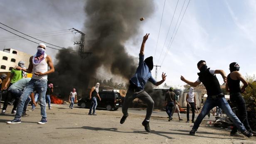
{"type": "Polygon", "coordinates": [[[204,103],[202,111],[198,115],[197,120],[194,122],[194,126],[192,129],[197,130],[204,117],[210,112],[210,110],[212,110],[213,107],[216,106],[220,107],[226,113],[227,117],[230,118],[230,120],[239,129],[240,132],[246,131],[244,124],[242,124],[238,117],[236,117],[236,114],[232,112],[229,103],[227,103],[224,97],[217,99],[211,99],[207,97],[207,100],[204,103]]]}

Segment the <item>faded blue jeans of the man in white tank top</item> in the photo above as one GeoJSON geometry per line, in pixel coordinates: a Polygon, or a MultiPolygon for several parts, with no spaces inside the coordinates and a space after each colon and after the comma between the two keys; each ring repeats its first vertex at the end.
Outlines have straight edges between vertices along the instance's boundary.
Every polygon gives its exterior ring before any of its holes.
{"type": "Polygon", "coordinates": [[[41,107],[41,116],[42,119],[46,119],[46,102],[45,102],[45,93],[47,90],[47,80],[36,80],[32,78],[29,83],[24,88],[24,91],[22,95],[20,96],[19,104],[17,107],[17,113],[15,115],[15,118],[20,119],[22,115],[22,109],[24,107],[25,101],[27,100],[27,97],[34,91],[37,90],[39,94],[39,102],[41,107]]]}

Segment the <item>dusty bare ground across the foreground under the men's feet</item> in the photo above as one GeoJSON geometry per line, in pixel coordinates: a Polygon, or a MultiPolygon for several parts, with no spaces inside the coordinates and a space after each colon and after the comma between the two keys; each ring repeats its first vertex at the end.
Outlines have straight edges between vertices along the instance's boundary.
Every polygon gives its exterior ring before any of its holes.
{"type": "Polygon", "coordinates": [[[6,114],[0,115],[0,144],[256,144],[256,137],[230,137],[229,131],[205,124],[191,136],[192,123],[179,122],[176,114],[171,122],[166,117],[151,117],[151,133],[147,133],[141,125],[145,114],[129,113],[126,122],[120,124],[120,110],[96,110],[97,116],[92,116],[87,115],[89,109],[52,107],[47,109],[47,124],[37,124],[41,119],[39,106],[28,111],[30,117],[22,117],[22,123],[6,124],[14,118],[8,106],[6,114]]]}

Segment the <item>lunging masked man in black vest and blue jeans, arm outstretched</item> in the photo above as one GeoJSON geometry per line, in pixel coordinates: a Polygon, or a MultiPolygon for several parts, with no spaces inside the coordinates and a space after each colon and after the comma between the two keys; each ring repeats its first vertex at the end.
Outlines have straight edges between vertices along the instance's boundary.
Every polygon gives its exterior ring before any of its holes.
{"type": "Polygon", "coordinates": [[[185,83],[196,87],[201,82],[204,84],[207,90],[207,100],[204,103],[202,111],[198,115],[196,121],[194,122],[194,126],[190,131],[190,135],[195,135],[199,124],[202,122],[203,118],[209,113],[209,111],[216,106],[219,106],[226,112],[226,115],[231,119],[234,125],[239,129],[239,131],[244,134],[246,137],[252,137],[253,134],[248,132],[244,125],[240,122],[238,117],[232,112],[229,104],[226,102],[225,95],[222,93],[222,90],[219,85],[219,81],[216,77],[216,73],[221,74],[224,82],[226,83],[226,73],[223,70],[210,70],[207,68],[206,62],[201,60],[197,63],[197,68],[200,73],[197,73],[199,78],[195,82],[188,81],[183,76],[180,77],[182,81],[185,83]]]}

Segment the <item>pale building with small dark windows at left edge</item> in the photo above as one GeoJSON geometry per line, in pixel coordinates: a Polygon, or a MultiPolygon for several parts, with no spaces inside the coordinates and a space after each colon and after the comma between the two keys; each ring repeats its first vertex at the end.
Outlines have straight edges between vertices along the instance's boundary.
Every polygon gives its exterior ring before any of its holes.
{"type": "Polygon", "coordinates": [[[30,54],[15,49],[0,51],[0,72],[10,72],[12,68],[18,66],[19,61],[25,61],[25,67],[28,68],[30,56],[30,54]]]}

